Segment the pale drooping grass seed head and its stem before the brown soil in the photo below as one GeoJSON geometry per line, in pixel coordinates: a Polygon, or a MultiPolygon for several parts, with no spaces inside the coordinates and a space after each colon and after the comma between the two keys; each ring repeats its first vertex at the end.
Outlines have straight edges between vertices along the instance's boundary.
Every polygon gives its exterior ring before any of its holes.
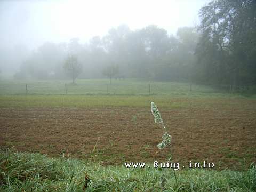
{"type": "MultiPolygon", "coordinates": [[[[151,102],[151,111],[152,111],[152,114],[154,115],[155,123],[158,124],[159,126],[161,126],[162,129],[163,129],[162,142],[157,145],[157,147],[158,147],[159,149],[163,149],[163,148],[165,148],[167,145],[171,145],[172,137],[171,137],[171,135],[167,132],[166,127],[165,127],[165,124],[164,124],[163,119],[162,119],[162,117],[161,117],[161,114],[159,113],[159,111],[158,111],[158,109],[157,109],[157,107],[156,107],[156,105],[155,105],[154,102],[151,102]]],[[[169,162],[169,161],[171,161],[171,163],[172,163],[172,156],[168,159],[167,162],[169,162]]],[[[173,164],[173,163],[172,163],[172,164],[173,164]]],[[[178,191],[179,191],[179,186],[178,186],[177,177],[176,177],[176,174],[175,174],[174,167],[173,167],[173,173],[174,173],[176,185],[177,185],[177,188],[178,188],[178,191]]],[[[164,187],[165,182],[166,182],[166,179],[165,179],[165,176],[163,175],[162,181],[161,181],[161,184],[162,184],[163,187],[164,187]]]]}

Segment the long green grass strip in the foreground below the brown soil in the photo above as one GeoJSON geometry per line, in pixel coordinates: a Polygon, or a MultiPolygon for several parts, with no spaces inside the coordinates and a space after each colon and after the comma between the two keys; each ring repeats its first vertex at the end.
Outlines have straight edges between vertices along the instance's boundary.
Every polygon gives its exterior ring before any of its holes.
{"type": "Polygon", "coordinates": [[[78,159],[0,151],[0,191],[256,191],[256,169],[238,171],[126,169],[78,159]],[[85,174],[90,182],[85,190],[85,174]],[[163,181],[165,181],[163,183],[163,181]]]}

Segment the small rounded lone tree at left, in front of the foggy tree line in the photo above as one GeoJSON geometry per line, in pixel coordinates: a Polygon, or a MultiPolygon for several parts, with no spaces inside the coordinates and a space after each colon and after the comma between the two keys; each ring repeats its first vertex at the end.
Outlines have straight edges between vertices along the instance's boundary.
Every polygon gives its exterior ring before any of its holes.
{"type": "Polygon", "coordinates": [[[66,73],[72,77],[73,84],[75,84],[75,79],[81,74],[82,72],[82,65],[81,63],[77,62],[77,58],[74,55],[70,55],[63,65],[63,69],[66,73]]]}

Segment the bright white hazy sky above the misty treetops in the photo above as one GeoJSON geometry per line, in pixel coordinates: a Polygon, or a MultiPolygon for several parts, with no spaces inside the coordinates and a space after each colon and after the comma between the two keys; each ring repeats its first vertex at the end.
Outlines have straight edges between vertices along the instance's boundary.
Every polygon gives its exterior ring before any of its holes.
{"type": "Polygon", "coordinates": [[[196,25],[199,9],[209,1],[0,0],[0,42],[30,49],[45,41],[68,42],[74,37],[86,42],[121,24],[131,29],[154,24],[175,34],[178,27],[196,25]]]}

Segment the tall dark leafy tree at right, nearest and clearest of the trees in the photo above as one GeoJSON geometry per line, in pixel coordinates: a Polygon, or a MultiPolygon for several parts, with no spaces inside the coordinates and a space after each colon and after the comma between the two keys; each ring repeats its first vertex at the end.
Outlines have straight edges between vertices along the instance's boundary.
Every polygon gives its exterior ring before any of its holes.
{"type": "Polygon", "coordinates": [[[199,15],[201,38],[196,53],[203,79],[255,83],[256,2],[212,1],[199,15]]]}

